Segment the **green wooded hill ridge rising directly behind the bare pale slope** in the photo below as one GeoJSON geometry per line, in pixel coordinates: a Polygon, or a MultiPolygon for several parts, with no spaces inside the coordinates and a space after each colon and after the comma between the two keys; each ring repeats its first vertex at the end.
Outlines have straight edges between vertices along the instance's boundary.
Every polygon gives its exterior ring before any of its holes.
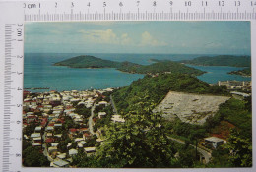
{"type": "Polygon", "coordinates": [[[161,74],[158,77],[145,76],[143,79],[134,81],[130,86],[116,90],[113,98],[118,111],[128,112],[133,109],[133,104],[141,101],[140,97],[149,94],[147,101],[159,104],[170,90],[200,94],[228,94],[224,87],[210,86],[189,75],[161,74]]]}

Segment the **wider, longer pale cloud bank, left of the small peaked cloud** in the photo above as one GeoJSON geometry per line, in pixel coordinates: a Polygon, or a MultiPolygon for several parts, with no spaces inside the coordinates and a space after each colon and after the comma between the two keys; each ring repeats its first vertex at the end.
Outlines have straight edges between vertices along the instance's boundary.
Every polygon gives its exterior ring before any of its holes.
{"type": "Polygon", "coordinates": [[[122,44],[126,45],[131,43],[131,38],[127,33],[123,33],[122,35],[117,35],[113,32],[112,29],[106,30],[84,30],[81,29],[78,31],[82,33],[84,38],[99,44],[122,44]]]}

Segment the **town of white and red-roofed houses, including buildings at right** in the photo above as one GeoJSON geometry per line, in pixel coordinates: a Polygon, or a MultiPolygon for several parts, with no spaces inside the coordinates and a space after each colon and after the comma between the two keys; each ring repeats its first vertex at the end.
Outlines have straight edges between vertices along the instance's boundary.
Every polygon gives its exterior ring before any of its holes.
{"type": "MultiPolygon", "coordinates": [[[[218,82],[217,85],[226,86],[234,98],[243,99],[250,96],[250,82],[227,81],[218,82]]],[[[25,90],[24,142],[31,143],[32,147],[40,151],[51,167],[73,167],[73,158],[79,151],[83,151],[87,156],[96,153],[96,147],[106,139],[104,134],[107,125],[125,122],[117,113],[111,97],[113,90],[25,90]]],[[[177,95],[179,94],[175,93],[175,97],[177,95]]],[[[208,137],[200,143],[201,148],[198,150],[202,154],[209,154],[211,149],[223,143],[226,141],[221,138],[208,137]]],[[[202,158],[205,159],[204,163],[208,163],[211,156],[202,158]]]]}

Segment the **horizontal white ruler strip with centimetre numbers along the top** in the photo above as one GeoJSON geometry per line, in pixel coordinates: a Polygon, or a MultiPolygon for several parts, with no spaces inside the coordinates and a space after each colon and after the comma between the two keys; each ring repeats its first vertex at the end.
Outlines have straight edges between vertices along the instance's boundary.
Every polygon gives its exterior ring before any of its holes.
{"type": "Polygon", "coordinates": [[[24,3],[25,21],[256,20],[256,0],[99,0],[24,3]]]}

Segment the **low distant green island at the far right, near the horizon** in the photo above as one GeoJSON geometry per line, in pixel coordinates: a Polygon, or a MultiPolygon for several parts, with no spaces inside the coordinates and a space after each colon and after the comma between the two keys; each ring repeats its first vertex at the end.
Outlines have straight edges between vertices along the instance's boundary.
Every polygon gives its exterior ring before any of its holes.
{"type": "Polygon", "coordinates": [[[232,56],[219,55],[215,57],[197,57],[192,60],[182,60],[180,63],[203,66],[233,66],[233,67],[250,67],[250,56],[232,56]]]}

